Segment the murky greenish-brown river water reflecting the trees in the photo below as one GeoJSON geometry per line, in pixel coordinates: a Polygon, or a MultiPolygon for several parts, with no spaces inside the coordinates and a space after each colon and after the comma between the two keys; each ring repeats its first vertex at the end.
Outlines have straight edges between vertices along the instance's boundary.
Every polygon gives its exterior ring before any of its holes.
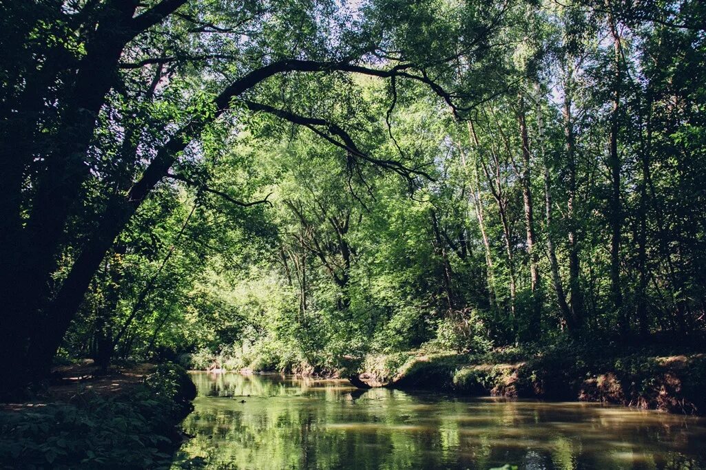
{"type": "Polygon", "coordinates": [[[183,426],[195,437],[182,445],[174,469],[706,470],[700,418],[599,404],[361,393],[345,380],[191,378],[198,397],[183,426]]]}

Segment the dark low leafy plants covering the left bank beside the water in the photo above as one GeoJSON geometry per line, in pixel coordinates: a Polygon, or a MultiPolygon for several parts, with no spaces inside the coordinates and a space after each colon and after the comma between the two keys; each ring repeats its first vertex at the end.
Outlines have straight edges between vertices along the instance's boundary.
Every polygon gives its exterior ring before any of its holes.
{"type": "Polygon", "coordinates": [[[171,457],[174,424],[193,399],[189,385],[184,370],[165,364],[128,394],[86,391],[67,403],[3,410],[0,462],[13,469],[161,468],[171,457]]]}

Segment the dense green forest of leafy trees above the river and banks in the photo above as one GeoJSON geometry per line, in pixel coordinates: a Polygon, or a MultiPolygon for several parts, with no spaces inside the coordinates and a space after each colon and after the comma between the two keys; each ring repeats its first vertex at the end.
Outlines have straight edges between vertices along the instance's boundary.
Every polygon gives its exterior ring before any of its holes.
{"type": "Polygon", "coordinates": [[[699,0],[0,1],[0,364],[699,344],[699,0]]]}

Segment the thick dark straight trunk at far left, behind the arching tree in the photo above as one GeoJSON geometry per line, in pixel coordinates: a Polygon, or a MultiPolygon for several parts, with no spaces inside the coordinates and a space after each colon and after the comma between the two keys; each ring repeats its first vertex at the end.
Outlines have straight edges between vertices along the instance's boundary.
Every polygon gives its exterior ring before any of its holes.
{"type": "Polygon", "coordinates": [[[90,174],[85,155],[93,138],[97,115],[116,79],[116,68],[131,38],[136,4],[117,2],[87,44],[76,81],[61,112],[56,144],[47,156],[47,167],[37,185],[23,237],[25,248],[25,305],[30,311],[47,299],[56,270],[56,255],[64,239],[64,227],[81,184],[90,174]]]}

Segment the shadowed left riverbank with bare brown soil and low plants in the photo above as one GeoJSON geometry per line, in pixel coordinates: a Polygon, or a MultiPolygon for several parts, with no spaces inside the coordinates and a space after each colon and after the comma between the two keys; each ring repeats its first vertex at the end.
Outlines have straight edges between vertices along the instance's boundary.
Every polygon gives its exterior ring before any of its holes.
{"type": "Polygon", "coordinates": [[[0,404],[0,468],[148,469],[167,464],[196,389],[171,363],[97,375],[56,370],[53,385],[0,404]]]}

